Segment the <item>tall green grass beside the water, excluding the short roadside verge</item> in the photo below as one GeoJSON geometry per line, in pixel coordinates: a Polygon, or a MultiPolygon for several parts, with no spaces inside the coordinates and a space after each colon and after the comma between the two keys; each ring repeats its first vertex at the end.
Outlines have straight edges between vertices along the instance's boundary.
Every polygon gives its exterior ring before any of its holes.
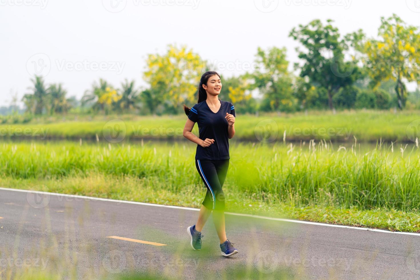
{"type": "MultiPolygon", "coordinates": [[[[176,193],[186,186],[202,185],[194,165],[195,147],[151,142],[3,143],[0,175],[22,179],[130,175],[176,193]]],[[[225,185],[233,200],[246,194],[294,207],[381,207],[416,212],[420,207],[420,152],[415,145],[402,152],[404,147],[391,150],[381,143],[367,151],[312,141],[232,144],[225,185]]]]}

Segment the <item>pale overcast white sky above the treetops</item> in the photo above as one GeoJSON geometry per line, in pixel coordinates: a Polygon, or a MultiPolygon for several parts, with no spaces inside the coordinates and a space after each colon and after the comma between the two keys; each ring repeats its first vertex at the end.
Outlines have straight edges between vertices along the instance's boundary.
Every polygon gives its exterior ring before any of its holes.
{"type": "MultiPolygon", "coordinates": [[[[420,0],[0,0],[0,105],[19,100],[35,71],[78,99],[93,81],[142,81],[147,54],[185,44],[229,77],[248,70],[257,47],[286,47],[290,30],[327,18],[341,34],[377,35],[381,16],[420,26],[420,0]]],[[[414,89],[411,85],[409,89],[414,89]]]]}

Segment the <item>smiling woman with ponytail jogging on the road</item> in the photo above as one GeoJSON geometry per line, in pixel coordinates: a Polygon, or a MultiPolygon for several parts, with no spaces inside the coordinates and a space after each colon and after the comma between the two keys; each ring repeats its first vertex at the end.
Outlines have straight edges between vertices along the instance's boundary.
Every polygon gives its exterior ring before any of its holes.
{"type": "Polygon", "coordinates": [[[225,231],[225,196],[222,186],[229,167],[229,141],[235,134],[235,108],[231,102],[218,99],[222,83],[220,75],[208,71],[201,76],[198,87],[198,102],[192,108],[184,105],[188,120],[184,137],[197,143],[195,166],[207,188],[207,193],[198,215],[197,223],[187,228],[194,250],[201,250],[201,231],[210,214],[220,239],[223,256],[238,253],[227,238],[225,231]],[[198,123],[199,137],[191,131],[198,123]]]}

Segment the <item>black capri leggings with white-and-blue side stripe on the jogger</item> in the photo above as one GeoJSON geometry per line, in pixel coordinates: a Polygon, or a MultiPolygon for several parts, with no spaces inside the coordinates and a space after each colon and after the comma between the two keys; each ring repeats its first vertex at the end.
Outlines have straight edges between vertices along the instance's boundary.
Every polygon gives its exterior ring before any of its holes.
{"type": "Polygon", "coordinates": [[[225,194],[222,187],[228,173],[229,160],[195,160],[195,166],[207,188],[202,204],[210,210],[224,210],[225,194]]]}

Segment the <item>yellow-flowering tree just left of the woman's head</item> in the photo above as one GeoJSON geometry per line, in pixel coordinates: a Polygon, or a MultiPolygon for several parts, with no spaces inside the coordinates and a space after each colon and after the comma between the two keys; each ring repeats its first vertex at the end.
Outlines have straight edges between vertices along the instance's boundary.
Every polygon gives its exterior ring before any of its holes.
{"type": "Polygon", "coordinates": [[[165,55],[150,54],[146,60],[144,80],[150,84],[155,100],[168,102],[173,108],[183,102],[194,102],[197,85],[206,63],[186,46],[168,45],[165,55]]]}

